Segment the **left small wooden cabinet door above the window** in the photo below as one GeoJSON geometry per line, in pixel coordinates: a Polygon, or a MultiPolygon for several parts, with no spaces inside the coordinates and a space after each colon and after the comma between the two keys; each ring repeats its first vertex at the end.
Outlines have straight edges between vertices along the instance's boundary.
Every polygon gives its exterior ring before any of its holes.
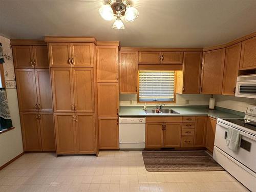
{"type": "Polygon", "coordinates": [[[140,51],[139,52],[139,63],[155,64],[161,62],[161,52],[153,51],[140,51]]]}

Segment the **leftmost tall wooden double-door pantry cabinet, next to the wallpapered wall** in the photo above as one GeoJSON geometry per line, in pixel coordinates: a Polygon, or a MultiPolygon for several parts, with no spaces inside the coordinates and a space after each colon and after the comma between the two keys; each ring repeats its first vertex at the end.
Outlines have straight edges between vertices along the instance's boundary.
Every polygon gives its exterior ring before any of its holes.
{"type": "Polygon", "coordinates": [[[46,42],[11,40],[25,152],[55,151],[46,42]]]}

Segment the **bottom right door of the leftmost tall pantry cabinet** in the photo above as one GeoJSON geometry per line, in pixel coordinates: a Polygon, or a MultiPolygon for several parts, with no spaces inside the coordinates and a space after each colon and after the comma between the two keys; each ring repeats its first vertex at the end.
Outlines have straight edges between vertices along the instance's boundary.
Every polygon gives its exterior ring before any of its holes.
{"type": "Polygon", "coordinates": [[[52,112],[40,112],[42,151],[55,151],[54,124],[52,112]]]}

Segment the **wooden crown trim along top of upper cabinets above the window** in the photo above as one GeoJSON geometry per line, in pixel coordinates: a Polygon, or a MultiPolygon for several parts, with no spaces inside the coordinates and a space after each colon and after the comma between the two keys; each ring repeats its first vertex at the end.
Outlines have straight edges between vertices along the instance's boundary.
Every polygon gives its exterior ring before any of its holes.
{"type": "Polygon", "coordinates": [[[203,48],[147,48],[147,47],[120,47],[120,51],[170,51],[170,52],[202,52],[203,48]]]}

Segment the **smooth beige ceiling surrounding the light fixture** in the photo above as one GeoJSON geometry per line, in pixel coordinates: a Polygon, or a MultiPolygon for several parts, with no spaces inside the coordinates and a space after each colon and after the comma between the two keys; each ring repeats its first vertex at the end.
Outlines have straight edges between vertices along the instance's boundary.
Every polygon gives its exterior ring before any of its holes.
{"type": "Polygon", "coordinates": [[[94,36],[129,47],[201,48],[256,31],[255,0],[133,0],[139,17],[112,29],[104,0],[1,0],[0,34],[8,38],[94,36]]]}

